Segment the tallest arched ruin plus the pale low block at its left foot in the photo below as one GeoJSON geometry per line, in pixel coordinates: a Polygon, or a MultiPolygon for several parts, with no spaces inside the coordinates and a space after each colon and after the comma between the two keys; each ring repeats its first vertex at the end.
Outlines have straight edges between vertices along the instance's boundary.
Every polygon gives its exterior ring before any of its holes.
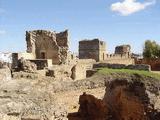
{"type": "Polygon", "coordinates": [[[26,31],[27,50],[12,54],[12,68],[18,68],[23,58],[37,65],[37,69],[66,64],[69,60],[68,31],[56,33],[47,30],[26,31]]]}

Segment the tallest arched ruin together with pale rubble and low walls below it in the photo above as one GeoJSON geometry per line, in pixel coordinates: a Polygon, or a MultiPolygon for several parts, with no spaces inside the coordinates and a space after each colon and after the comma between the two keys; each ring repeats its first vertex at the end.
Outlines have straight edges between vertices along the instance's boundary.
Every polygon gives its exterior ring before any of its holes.
{"type": "Polygon", "coordinates": [[[84,79],[87,69],[92,69],[95,62],[93,59],[80,60],[69,52],[68,30],[60,33],[26,31],[26,43],[26,52],[12,54],[14,72],[40,73],[63,80],[84,79]]]}

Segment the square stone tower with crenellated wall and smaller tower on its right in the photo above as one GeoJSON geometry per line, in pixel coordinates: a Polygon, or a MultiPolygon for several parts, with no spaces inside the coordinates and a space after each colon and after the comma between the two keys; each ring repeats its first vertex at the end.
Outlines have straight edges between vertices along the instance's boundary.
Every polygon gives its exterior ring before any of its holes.
{"type": "Polygon", "coordinates": [[[135,64],[134,59],[131,57],[130,45],[117,46],[114,54],[106,54],[106,43],[99,39],[80,41],[79,58],[95,59],[97,62],[110,64],[135,64]]]}

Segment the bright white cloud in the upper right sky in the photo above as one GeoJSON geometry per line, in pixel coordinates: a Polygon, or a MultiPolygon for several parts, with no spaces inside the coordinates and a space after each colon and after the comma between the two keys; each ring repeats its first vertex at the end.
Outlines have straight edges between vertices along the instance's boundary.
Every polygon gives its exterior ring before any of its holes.
{"type": "Polygon", "coordinates": [[[123,16],[133,14],[135,12],[144,10],[146,7],[156,3],[156,0],[148,0],[146,2],[138,2],[137,0],[124,0],[123,2],[116,2],[111,5],[111,10],[118,12],[123,16]]]}

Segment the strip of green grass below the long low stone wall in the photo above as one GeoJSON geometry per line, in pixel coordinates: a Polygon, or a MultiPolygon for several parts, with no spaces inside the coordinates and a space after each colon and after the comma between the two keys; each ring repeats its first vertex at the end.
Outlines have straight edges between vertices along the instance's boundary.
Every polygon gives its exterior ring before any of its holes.
{"type": "Polygon", "coordinates": [[[148,76],[148,77],[152,77],[160,80],[160,74],[149,72],[149,71],[142,71],[142,70],[100,68],[98,70],[98,73],[101,73],[101,74],[127,73],[130,75],[139,74],[139,75],[148,76]]]}

